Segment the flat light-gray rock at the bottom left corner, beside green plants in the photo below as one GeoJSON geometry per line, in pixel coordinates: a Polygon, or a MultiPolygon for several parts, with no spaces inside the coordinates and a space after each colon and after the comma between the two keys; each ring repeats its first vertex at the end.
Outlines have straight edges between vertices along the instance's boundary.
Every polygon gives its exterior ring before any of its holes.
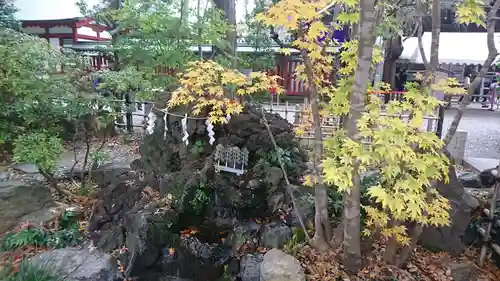
{"type": "Polygon", "coordinates": [[[117,281],[117,262],[111,255],[87,249],[63,248],[48,251],[29,260],[67,281],[117,281]]]}

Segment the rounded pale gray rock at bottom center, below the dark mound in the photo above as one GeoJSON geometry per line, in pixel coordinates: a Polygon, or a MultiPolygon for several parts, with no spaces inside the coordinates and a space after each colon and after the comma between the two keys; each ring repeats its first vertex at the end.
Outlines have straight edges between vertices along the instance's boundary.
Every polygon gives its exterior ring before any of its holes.
{"type": "Polygon", "coordinates": [[[260,281],[305,281],[306,275],[300,262],[278,249],[264,255],[260,264],[260,281]]]}

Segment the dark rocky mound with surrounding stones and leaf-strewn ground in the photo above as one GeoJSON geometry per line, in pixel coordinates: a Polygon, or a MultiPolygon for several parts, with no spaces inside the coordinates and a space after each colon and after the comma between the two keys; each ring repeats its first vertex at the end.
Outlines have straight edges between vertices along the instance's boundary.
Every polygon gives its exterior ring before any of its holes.
{"type": "MultiPolygon", "coordinates": [[[[292,189],[277,163],[259,108],[246,106],[215,130],[217,144],[248,151],[241,175],[220,169],[220,151],[209,144],[204,122],[188,123],[190,144],[184,145],[181,118],[165,119],[162,112],[155,112],[152,134],[128,144],[122,139],[106,145],[117,155],[89,170],[94,186],[90,193],[78,194],[88,201],[58,195],[32,166],[11,166],[10,179],[0,182],[4,264],[20,272],[41,266],[69,278],[64,280],[78,281],[305,280],[306,276],[319,280],[325,270],[341,272],[338,263],[330,262],[337,259],[334,253],[320,254],[303,244],[300,221],[312,226],[314,197],[311,188],[302,185],[307,153],[286,120],[266,114],[276,144],[286,155],[292,189]]],[[[58,168],[60,185],[81,180],[75,167],[58,168]]],[[[364,175],[364,184],[373,184],[376,177],[376,172],[364,175]]],[[[442,270],[443,276],[454,276],[453,280],[479,276],[466,258],[474,251],[463,253],[467,243],[477,242],[477,234],[467,229],[481,223],[471,216],[486,202],[478,191],[487,193],[488,188],[491,184],[481,181],[480,175],[452,176],[443,189],[455,190],[448,195],[455,198],[454,223],[448,229],[424,231],[423,248],[408,270],[427,276],[425,268],[431,266],[442,270]],[[449,255],[430,254],[424,248],[449,255]]],[[[329,198],[329,208],[338,215],[340,197],[329,198]]],[[[496,231],[493,239],[498,239],[496,231]]]]}

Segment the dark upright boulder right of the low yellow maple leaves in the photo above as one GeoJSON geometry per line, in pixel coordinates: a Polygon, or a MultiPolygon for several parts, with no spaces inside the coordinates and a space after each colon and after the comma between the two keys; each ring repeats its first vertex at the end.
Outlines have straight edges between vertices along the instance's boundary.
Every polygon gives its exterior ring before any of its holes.
{"type": "Polygon", "coordinates": [[[450,253],[452,256],[460,255],[465,249],[462,237],[471,222],[470,195],[465,193],[464,187],[458,180],[455,168],[450,165],[448,183],[439,182],[436,185],[441,195],[447,198],[451,204],[450,226],[426,227],[420,236],[420,243],[424,247],[450,253]]]}

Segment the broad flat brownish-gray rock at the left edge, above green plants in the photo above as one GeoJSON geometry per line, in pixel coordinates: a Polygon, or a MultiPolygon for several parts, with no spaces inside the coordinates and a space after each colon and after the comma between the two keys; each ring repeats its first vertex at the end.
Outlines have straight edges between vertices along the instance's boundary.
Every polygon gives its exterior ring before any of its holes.
{"type": "Polygon", "coordinates": [[[0,182],[0,234],[54,206],[50,189],[42,183],[0,182]]]}

